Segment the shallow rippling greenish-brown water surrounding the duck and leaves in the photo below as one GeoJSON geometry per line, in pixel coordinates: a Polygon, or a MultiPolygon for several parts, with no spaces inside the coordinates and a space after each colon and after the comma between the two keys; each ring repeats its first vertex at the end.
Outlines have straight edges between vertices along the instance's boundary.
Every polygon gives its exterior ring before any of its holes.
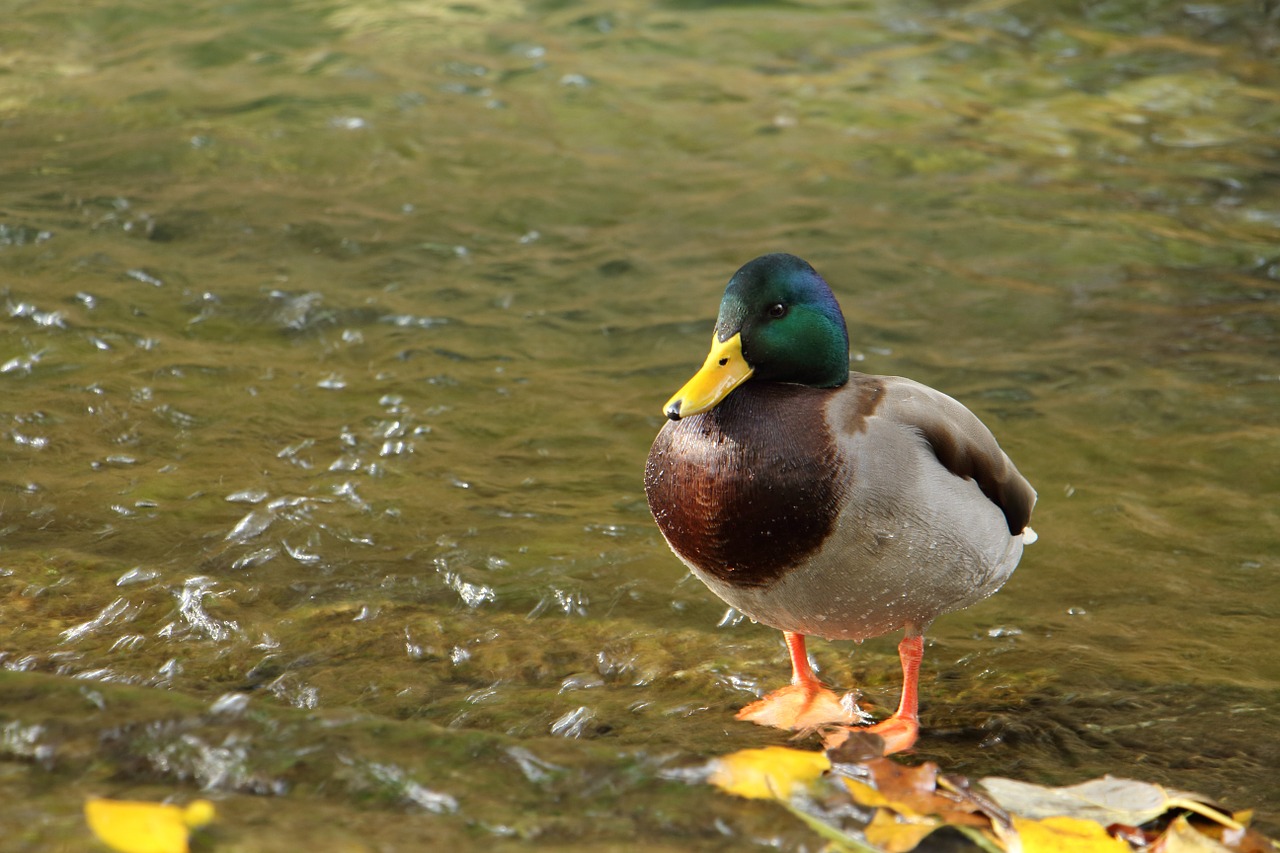
{"type": "MultiPolygon", "coordinates": [[[[216,849],[813,849],[672,772],[783,743],[732,711],[787,670],[640,483],[776,250],[1039,489],[919,757],[1274,834],[1277,53],[1251,3],[10,8],[6,845],[205,792],[216,849]]],[[[883,708],[895,643],[814,653],[883,708]]]]}

